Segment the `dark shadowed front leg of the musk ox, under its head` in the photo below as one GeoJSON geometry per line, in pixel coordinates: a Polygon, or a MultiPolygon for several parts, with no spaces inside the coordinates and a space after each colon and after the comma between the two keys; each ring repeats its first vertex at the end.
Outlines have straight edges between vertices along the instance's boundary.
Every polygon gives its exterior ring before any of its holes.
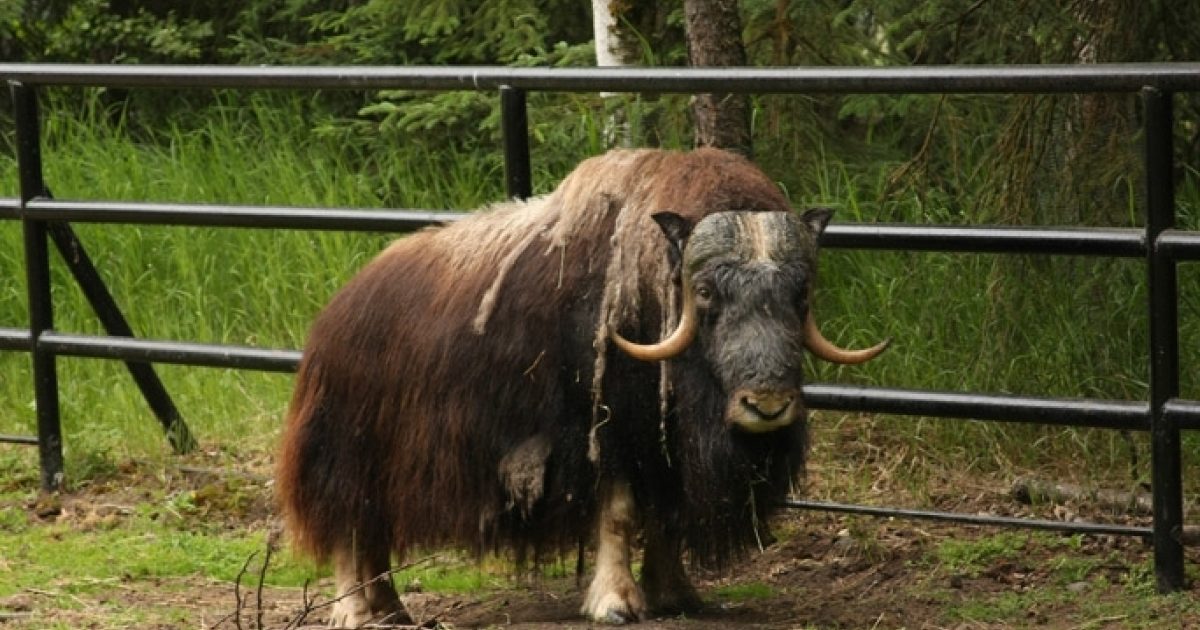
{"type": "Polygon", "coordinates": [[[703,607],[683,568],[683,536],[660,523],[646,526],[642,590],[650,610],[665,614],[695,612],[703,607]]]}

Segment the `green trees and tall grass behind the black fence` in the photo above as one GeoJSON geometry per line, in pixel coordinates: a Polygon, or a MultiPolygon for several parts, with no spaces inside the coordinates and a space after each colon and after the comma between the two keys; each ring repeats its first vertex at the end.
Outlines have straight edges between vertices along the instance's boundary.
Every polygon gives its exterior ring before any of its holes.
{"type": "MultiPolygon", "coordinates": [[[[611,7],[631,35],[631,62],[689,62],[684,2],[611,7]]],[[[590,10],[580,0],[7,0],[0,60],[590,66],[590,10]]],[[[757,66],[1200,59],[1200,4],[1183,0],[745,0],[738,10],[757,66]]],[[[11,197],[4,98],[0,196],[11,197]]],[[[1200,98],[1175,103],[1178,210],[1196,228],[1200,98]]],[[[43,104],[47,181],[60,198],[461,210],[504,194],[498,98],[487,92],[56,89],[43,104]]],[[[536,191],[613,144],[690,148],[690,106],[678,95],[530,95],[536,191]]],[[[792,202],[835,208],[838,221],[1144,222],[1135,95],[769,95],[750,100],[749,124],[756,162],[792,202]]],[[[139,335],[278,348],[299,348],[320,305],[392,238],[79,232],[139,335]]],[[[26,322],[20,251],[19,226],[0,224],[0,325],[26,322]]],[[[830,250],[817,301],[827,335],[896,341],[869,366],[814,364],[811,379],[1141,400],[1144,276],[1140,260],[830,250]]],[[[1200,276],[1184,265],[1180,282],[1183,395],[1198,398],[1200,276]]],[[[55,283],[56,328],[100,332],[61,268],[55,283]]],[[[0,433],[34,430],[28,362],[0,355],[0,433]]],[[[270,449],[290,377],[160,371],[202,440],[270,449]]],[[[64,359],[60,372],[68,467],[166,452],[119,364],[64,359]]],[[[966,468],[1072,468],[1082,456],[1123,482],[1148,479],[1144,436],[876,421],[966,468]]],[[[1186,450],[1190,474],[1200,443],[1186,450]]]]}

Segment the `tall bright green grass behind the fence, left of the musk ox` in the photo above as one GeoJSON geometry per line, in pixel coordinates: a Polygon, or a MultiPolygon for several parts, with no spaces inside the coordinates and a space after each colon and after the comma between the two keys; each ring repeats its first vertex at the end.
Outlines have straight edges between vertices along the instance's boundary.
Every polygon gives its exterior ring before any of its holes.
{"type": "MultiPolygon", "coordinates": [[[[95,95],[46,115],[46,180],[59,198],[470,208],[503,190],[498,163],[473,155],[350,155],[310,133],[300,97],[214,108],[155,133],[95,95]],[[388,187],[365,169],[388,173],[388,187]]],[[[0,194],[16,194],[11,154],[0,194]]],[[[298,348],[317,310],[394,235],[301,230],[76,226],[139,336],[298,348]]],[[[0,223],[0,325],[26,323],[20,229],[0,223]]],[[[101,326],[66,269],[53,260],[55,328],[101,326]]],[[[28,358],[0,354],[0,432],[32,433],[28,358]]],[[[161,454],[161,430],[120,364],[60,361],[68,461],[86,451],[161,454]]],[[[186,420],[209,443],[269,444],[290,377],[160,366],[186,420]]]]}

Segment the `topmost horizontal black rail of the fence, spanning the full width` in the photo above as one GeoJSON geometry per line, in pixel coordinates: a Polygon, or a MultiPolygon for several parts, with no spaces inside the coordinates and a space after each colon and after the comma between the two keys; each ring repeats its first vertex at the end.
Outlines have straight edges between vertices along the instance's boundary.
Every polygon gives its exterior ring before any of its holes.
{"type": "Polygon", "coordinates": [[[28,85],[559,92],[1082,94],[1200,91],[1200,64],[917,67],[134,66],[0,64],[28,85]]]}

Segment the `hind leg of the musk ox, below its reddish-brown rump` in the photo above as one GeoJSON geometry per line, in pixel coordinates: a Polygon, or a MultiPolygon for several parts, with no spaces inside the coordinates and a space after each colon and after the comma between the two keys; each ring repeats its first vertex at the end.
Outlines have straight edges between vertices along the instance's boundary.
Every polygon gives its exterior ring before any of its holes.
{"type": "Polygon", "coordinates": [[[337,586],[332,628],[359,628],[370,622],[410,623],[391,584],[388,547],[337,548],[334,551],[334,581],[337,586]]]}

